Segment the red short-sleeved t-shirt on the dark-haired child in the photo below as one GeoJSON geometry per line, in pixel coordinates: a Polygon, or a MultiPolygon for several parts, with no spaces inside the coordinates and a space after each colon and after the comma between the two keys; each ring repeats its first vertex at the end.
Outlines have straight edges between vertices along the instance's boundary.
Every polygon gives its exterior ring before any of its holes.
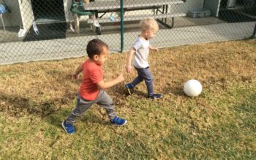
{"type": "Polygon", "coordinates": [[[97,83],[103,80],[102,65],[91,62],[83,63],[83,81],[80,84],[79,95],[85,100],[95,100],[99,94],[97,83]]]}

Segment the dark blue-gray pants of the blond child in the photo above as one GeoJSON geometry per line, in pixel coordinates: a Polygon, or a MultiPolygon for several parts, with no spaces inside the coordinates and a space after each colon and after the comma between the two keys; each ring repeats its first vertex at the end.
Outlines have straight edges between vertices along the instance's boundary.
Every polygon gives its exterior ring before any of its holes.
{"type": "Polygon", "coordinates": [[[132,86],[135,87],[137,84],[139,84],[141,81],[145,81],[146,87],[148,89],[148,96],[154,95],[154,87],[153,87],[153,76],[151,71],[149,70],[149,67],[147,68],[136,68],[138,72],[138,77],[136,77],[132,81],[132,86]]]}

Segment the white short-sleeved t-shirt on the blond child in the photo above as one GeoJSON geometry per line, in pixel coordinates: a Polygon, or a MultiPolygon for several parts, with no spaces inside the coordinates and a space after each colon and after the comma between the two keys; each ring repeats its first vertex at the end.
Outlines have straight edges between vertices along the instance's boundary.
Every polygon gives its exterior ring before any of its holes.
{"type": "Polygon", "coordinates": [[[136,39],[132,47],[136,51],[133,65],[136,68],[147,68],[149,66],[148,65],[149,41],[141,39],[140,36],[138,36],[138,39],[136,39]]]}

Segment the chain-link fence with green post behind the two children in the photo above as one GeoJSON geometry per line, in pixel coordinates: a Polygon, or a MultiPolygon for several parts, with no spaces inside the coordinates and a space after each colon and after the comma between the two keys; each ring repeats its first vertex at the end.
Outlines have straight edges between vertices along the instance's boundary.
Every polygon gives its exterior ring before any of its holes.
{"type": "Polygon", "coordinates": [[[255,37],[255,0],[0,0],[0,65],[86,55],[91,39],[125,52],[154,17],[151,44],[184,44],[255,37]]]}

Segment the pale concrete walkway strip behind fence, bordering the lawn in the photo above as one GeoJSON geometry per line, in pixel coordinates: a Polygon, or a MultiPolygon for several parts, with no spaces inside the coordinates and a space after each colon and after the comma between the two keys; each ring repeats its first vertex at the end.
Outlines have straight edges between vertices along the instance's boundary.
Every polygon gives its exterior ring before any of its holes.
{"type": "MultiPolygon", "coordinates": [[[[252,36],[256,22],[220,23],[173,29],[162,29],[151,40],[155,47],[174,47],[214,41],[247,39],[252,36]]],[[[129,50],[139,32],[124,34],[124,52],[129,50]]],[[[77,36],[45,41],[10,42],[0,44],[0,65],[37,60],[60,60],[86,55],[86,44],[91,39],[107,42],[111,52],[120,52],[120,33],[77,36]]]]}

